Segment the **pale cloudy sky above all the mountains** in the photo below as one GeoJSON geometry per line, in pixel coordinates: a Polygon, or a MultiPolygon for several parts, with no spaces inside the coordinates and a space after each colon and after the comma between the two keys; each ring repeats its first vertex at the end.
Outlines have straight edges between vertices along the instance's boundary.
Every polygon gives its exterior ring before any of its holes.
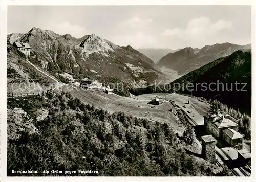
{"type": "Polygon", "coordinates": [[[96,34],[133,48],[251,43],[250,6],[8,6],[7,31],[96,34]]]}

